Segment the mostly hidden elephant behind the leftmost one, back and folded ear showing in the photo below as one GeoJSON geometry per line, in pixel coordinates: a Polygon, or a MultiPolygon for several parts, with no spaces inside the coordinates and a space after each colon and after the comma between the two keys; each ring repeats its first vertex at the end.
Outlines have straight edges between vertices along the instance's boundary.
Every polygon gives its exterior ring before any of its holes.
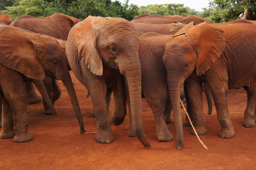
{"type": "MultiPolygon", "coordinates": [[[[34,33],[44,34],[47,36],[54,37],[56,39],[63,40],[60,42],[60,45],[65,51],[66,40],[68,38],[68,33],[70,29],[80,22],[80,20],[59,13],[54,13],[50,17],[33,17],[29,15],[21,16],[17,20],[15,20],[11,26],[25,29],[34,33]]],[[[66,58],[66,55],[64,55],[66,58]]],[[[67,61],[67,60],[66,60],[67,61]]],[[[67,61],[68,64],[68,61],[67,61]]],[[[71,70],[68,64],[69,70],[71,70]]],[[[56,79],[53,76],[46,76],[43,80],[45,84],[46,91],[49,95],[49,98],[52,100],[52,103],[59,99],[61,95],[61,90],[56,82],[56,79]]],[[[27,103],[35,104],[41,101],[41,98],[35,93],[33,83],[26,83],[26,91],[27,91],[27,103]]],[[[52,115],[54,112],[44,103],[44,114],[52,115]]]]}

